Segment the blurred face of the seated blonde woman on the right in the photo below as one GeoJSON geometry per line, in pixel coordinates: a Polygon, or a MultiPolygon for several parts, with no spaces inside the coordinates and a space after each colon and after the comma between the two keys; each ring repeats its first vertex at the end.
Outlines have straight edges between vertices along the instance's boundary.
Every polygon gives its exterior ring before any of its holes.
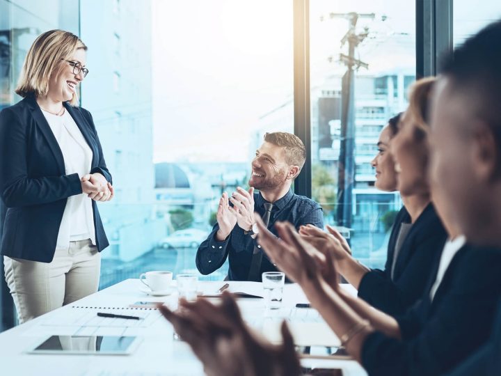
{"type": "Polygon", "coordinates": [[[404,196],[428,194],[427,165],[429,146],[427,136],[418,136],[415,118],[407,110],[401,117],[399,132],[391,141],[391,152],[397,171],[397,189],[404,196]]]}

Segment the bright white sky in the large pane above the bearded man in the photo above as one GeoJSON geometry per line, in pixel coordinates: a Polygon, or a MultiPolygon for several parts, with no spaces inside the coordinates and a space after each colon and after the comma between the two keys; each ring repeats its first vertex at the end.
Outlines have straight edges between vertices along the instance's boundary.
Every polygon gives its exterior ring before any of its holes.
{"type": "Polygon", "coordinates": [[[243,162],[292,92],[290,1],[154,1],[154,159],[243,162]]]}

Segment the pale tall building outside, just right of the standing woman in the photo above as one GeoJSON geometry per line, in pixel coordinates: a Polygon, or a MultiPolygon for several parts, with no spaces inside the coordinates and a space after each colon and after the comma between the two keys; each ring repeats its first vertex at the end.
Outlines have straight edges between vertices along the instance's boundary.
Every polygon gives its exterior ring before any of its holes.
{"type": "Polygon", "coordinates": [[[165,235],[154,215],[152,31],[149,1],[86,0],[81,39],[88,77],[81,103],[94,118],[115,198],[100,204],[111,247],[104,258],[132,260],[165,235]]]}

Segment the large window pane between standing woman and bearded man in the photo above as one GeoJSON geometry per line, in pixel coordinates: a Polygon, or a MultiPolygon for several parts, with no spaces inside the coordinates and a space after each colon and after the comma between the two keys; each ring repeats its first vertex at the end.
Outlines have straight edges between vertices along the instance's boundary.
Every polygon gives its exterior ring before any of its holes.
{"type": "Polygon", "coordinates": [[[292,0],[86,0],[81,36],[82,102],[116,188],[99,204],[100,287],[198,273],[221,193],[248,187],[264,132],[293,132],[292,0]]]}

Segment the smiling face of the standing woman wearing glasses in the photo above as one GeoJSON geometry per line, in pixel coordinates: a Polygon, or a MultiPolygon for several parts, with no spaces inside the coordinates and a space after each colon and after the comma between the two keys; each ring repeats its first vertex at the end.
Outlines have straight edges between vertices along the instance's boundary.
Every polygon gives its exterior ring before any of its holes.
{"type": "Polygon", "coordinates": [[[84,79],[84,74],[73,73],[73,65],[70,62],[80,63],[82,67],[86,65],[86,52],[84,49],[76,49],[67,61],[61,60],[58,68],[52,72],[49,79],[49,92],[47,95],[55,102],[67,102],[77,95],[77,86],[84,79]]]}

